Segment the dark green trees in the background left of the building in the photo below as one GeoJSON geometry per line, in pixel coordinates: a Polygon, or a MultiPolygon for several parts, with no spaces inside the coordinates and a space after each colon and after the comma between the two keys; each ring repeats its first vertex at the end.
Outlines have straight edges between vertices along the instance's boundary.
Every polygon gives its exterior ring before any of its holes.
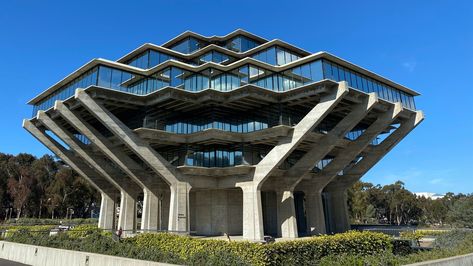
{"type": "Polygon", "coordinates": [[[0,219],[90,217],[98,193],[61,161],[0,153],[0,219]]]}

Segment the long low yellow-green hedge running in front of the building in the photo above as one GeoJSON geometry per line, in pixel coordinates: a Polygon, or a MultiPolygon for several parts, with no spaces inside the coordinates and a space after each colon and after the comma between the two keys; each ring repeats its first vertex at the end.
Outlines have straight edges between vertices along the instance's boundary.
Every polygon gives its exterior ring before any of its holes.
{"type": "Polygon", "coordinates": [[[374,232],[259,244],[247,241],[202,240],[166,233],[144,233],[113,242],[97,229],[57,236],[18,232],[7,240],[32,245],[95,252],[186,265],[313,265],[327,255],[375,255],[391,252],[391,238],[374,232]],[[83,233],[87,232],[87,233],[83,233]]]}

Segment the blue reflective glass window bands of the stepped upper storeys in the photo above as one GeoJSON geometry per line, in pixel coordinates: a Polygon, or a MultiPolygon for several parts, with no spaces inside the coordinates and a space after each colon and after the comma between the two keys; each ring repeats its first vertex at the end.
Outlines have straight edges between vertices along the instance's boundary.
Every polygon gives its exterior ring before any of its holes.
{"type": "MultiPolygon", "coordinates": [[[[260,45],[260,43],[244,36],[237,36],[227,42],[221,42],[219,45],[233,51],[244,52],[260,45]]],[[[172,49],[182,53],[192,53],[202,47],[203,44],[197,39],[188,37],[174,45],[172,49]]],[[[257,52],[252,57],[275,66],[286,65],[300,59],[300,56],[296,53],[279,46],[257,52]]],[[[170,59],[184,61],[162,52],[146,50],[126,63],[138,68],[149,69],[170,59]]],[[[206,54],[189,59],[185,63],[193,65],[200,65],[205,62],[228,64],[234,60],[234,58],[221,52],[209,51],[206,54]]],[[[113,67],[96,66],[35,104],[33,116],[36,115],[38,110],[46,110],[52,107],[55,100],[64,100],[71,97],[75,89],[86,88],[91,85],[139,95],[148,94],[168,86],[196,92],[205,89],[231,91],[248,84],[283,92],[323,79],[347,81],[351,88],[367,93],[375,92],[381,99],[390,102],[401,102],[405,108],[415,110],[412,95],[330,60],[316,59],[281,72],[273,72],[247,64],[225,72],[215,68],[193,72],[179,67],[168,67],[150,76],[143,76],[113,67]]]]}

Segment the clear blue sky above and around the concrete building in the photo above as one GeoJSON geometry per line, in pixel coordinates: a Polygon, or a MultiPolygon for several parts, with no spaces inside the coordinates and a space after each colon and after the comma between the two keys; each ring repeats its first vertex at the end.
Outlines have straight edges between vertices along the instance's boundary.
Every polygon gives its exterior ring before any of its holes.
{"type": "Polygon", "coordinates": [[[0,152],[49,152],[21,128],[26,102],[90,59],[236,28],[331,52],[422,93],[426,120],[363,180],[473,192],[471,0],[3,1],[0,152]]]}

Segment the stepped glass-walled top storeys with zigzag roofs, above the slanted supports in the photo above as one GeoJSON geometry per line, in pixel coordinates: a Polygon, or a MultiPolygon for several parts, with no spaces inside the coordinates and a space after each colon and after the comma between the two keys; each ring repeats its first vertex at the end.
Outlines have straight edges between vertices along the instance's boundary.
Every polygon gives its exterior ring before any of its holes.
{"type": "Polygon", "coordinates": [[[311,54],[280,40],[236,30],[204,37],[184,32],[161,46],[144,44],[117,61],[93,59],[29,101],[33,116],[77,88],[98,86],[136,95],[166,87],[231,91],[246,85],[284,92],[321,80],[347,81],[415,110],[417,92],[327,52],[311,54]]]}

